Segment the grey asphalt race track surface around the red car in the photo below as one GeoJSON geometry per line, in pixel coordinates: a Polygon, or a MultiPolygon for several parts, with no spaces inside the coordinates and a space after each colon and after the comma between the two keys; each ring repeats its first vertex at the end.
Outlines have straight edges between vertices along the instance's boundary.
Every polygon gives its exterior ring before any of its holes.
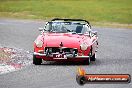
{"type": "MultiPolygon", "coordinates": [[[[43,27],[42,21],[0,19],[0,44],[6,47],[33,50],[33,41],[43,27]]],[[[90,65],[75,63],[47,63],[0,75],[0,88],[132,88],[129,84],[76,83],[77,68],[89,74],[132,75],[132,29],[97,28],[99,49],[97,61],[90,65]]],[[[25,58],[26,59],[26,58],[25,58]]]]}

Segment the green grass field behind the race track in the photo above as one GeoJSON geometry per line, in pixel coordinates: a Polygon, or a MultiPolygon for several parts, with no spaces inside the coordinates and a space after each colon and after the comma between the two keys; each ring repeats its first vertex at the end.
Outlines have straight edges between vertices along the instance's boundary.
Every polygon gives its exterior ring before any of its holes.
{"type": "Polygon", "coordinates": [[[0,17],[132,24],[132,0],[0,0],[0,17]]]}

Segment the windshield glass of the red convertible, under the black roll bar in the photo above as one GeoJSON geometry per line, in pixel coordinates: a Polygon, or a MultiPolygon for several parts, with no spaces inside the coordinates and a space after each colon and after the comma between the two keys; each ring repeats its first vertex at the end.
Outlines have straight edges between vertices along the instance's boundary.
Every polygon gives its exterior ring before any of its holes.
{"type": "Polygon", "coordinates": [[[49,22],[46,25],[46,30],[49,32],[57,32],[57,33],[81,33],[84,34],[90,31],[90,28],[84,24],[79,22],[49,22]]]}

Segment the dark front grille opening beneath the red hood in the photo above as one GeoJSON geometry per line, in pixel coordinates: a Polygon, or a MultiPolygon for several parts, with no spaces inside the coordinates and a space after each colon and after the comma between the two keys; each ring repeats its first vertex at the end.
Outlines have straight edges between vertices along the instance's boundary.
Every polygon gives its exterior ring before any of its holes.
{"type": "Polygon", "coordinates": [[[64,47],[45,47],[45,52],[46,50],[49,50],[51,53],[56,53],[56,52],[65,52],[65,53],[73,53],[73,51],[75,51],[75,54],[78,53],[77,49],[74,48],[64,48],[64,47]]]}

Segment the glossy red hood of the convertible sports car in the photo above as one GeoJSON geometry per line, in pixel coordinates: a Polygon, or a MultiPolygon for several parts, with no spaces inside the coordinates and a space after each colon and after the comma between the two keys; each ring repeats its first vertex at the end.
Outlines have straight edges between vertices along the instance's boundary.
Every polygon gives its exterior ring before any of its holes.
{"type": "Polygon", "coordinates": [[[49,33],[44,35],[44,46],[59,47],[62,43],[63,47],[80,48],[80,44],[88,39],[86,36],[77,34],[49,33]]]}

